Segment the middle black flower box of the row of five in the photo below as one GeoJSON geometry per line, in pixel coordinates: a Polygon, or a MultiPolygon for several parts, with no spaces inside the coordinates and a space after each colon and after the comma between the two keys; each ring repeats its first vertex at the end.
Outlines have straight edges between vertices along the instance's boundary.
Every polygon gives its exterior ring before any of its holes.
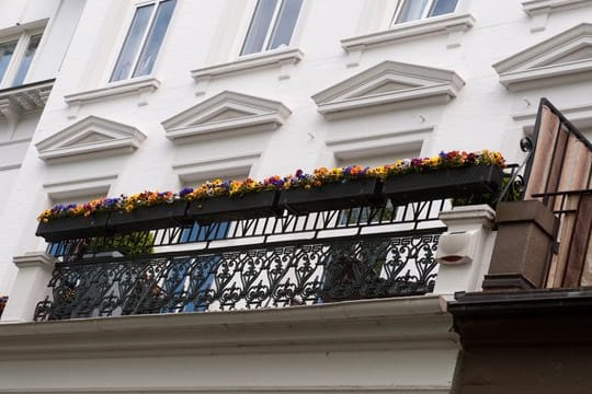
{"type": "Polygon", "coordinates": [[[265,190],[240,197],[214,197],[190,201],[187,219],[201,224],[277,216],[277,192],[265,190]]]}

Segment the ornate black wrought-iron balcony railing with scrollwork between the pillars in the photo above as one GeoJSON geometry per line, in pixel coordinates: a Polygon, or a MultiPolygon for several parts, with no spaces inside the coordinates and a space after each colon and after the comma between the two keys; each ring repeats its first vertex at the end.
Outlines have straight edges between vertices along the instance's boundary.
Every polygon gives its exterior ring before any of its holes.
{"type": "Polygon", "coordinates": [[[286,213],[117,241],[68,240],[49,245],[60,263],[35,320],[423,294],[434,287],[434,254],[445,231],[437,215],[446,204],[286,213]],[[135,255],[138,245],[151,253],[135,255]]]}

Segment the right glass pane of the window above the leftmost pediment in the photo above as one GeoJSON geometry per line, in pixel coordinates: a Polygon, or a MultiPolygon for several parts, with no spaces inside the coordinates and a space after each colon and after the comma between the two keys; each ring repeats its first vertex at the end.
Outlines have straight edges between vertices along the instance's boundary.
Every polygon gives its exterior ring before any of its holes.
{"type": "Polygon", "coordinates": [[[144,49],[133,77],[148,76],[152,71],[158,50],[162,45],[162,38],[164,38],[164,33],[167,33],[167,27],[171,21],[175,2],[177,0],[163,1],[158,7],[157,15],[150,27],[150,33],[148,33],[148,38],[146,38],[146,44],[144,44],[144,49]]]}

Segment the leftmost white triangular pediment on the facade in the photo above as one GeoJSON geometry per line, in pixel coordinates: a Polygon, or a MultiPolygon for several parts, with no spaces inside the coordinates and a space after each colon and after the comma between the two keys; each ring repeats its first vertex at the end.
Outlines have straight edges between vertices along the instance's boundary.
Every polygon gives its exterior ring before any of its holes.
{"type": "Polygon", "coordinates": [[[145,139],[135,127],[89,116],[35,146],[42,160],[53,162],[129,153],[145,139]]]}

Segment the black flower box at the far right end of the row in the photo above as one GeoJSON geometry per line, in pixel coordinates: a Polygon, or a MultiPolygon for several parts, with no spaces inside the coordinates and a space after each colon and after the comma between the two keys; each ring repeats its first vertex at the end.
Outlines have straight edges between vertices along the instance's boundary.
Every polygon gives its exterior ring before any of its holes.
{"type": "Polygon", "coordinates": [[[498,165],[475,165],[394,176],[383,193],[394,204],[435,200],[494,193],[503,173],[498,165]]]}

